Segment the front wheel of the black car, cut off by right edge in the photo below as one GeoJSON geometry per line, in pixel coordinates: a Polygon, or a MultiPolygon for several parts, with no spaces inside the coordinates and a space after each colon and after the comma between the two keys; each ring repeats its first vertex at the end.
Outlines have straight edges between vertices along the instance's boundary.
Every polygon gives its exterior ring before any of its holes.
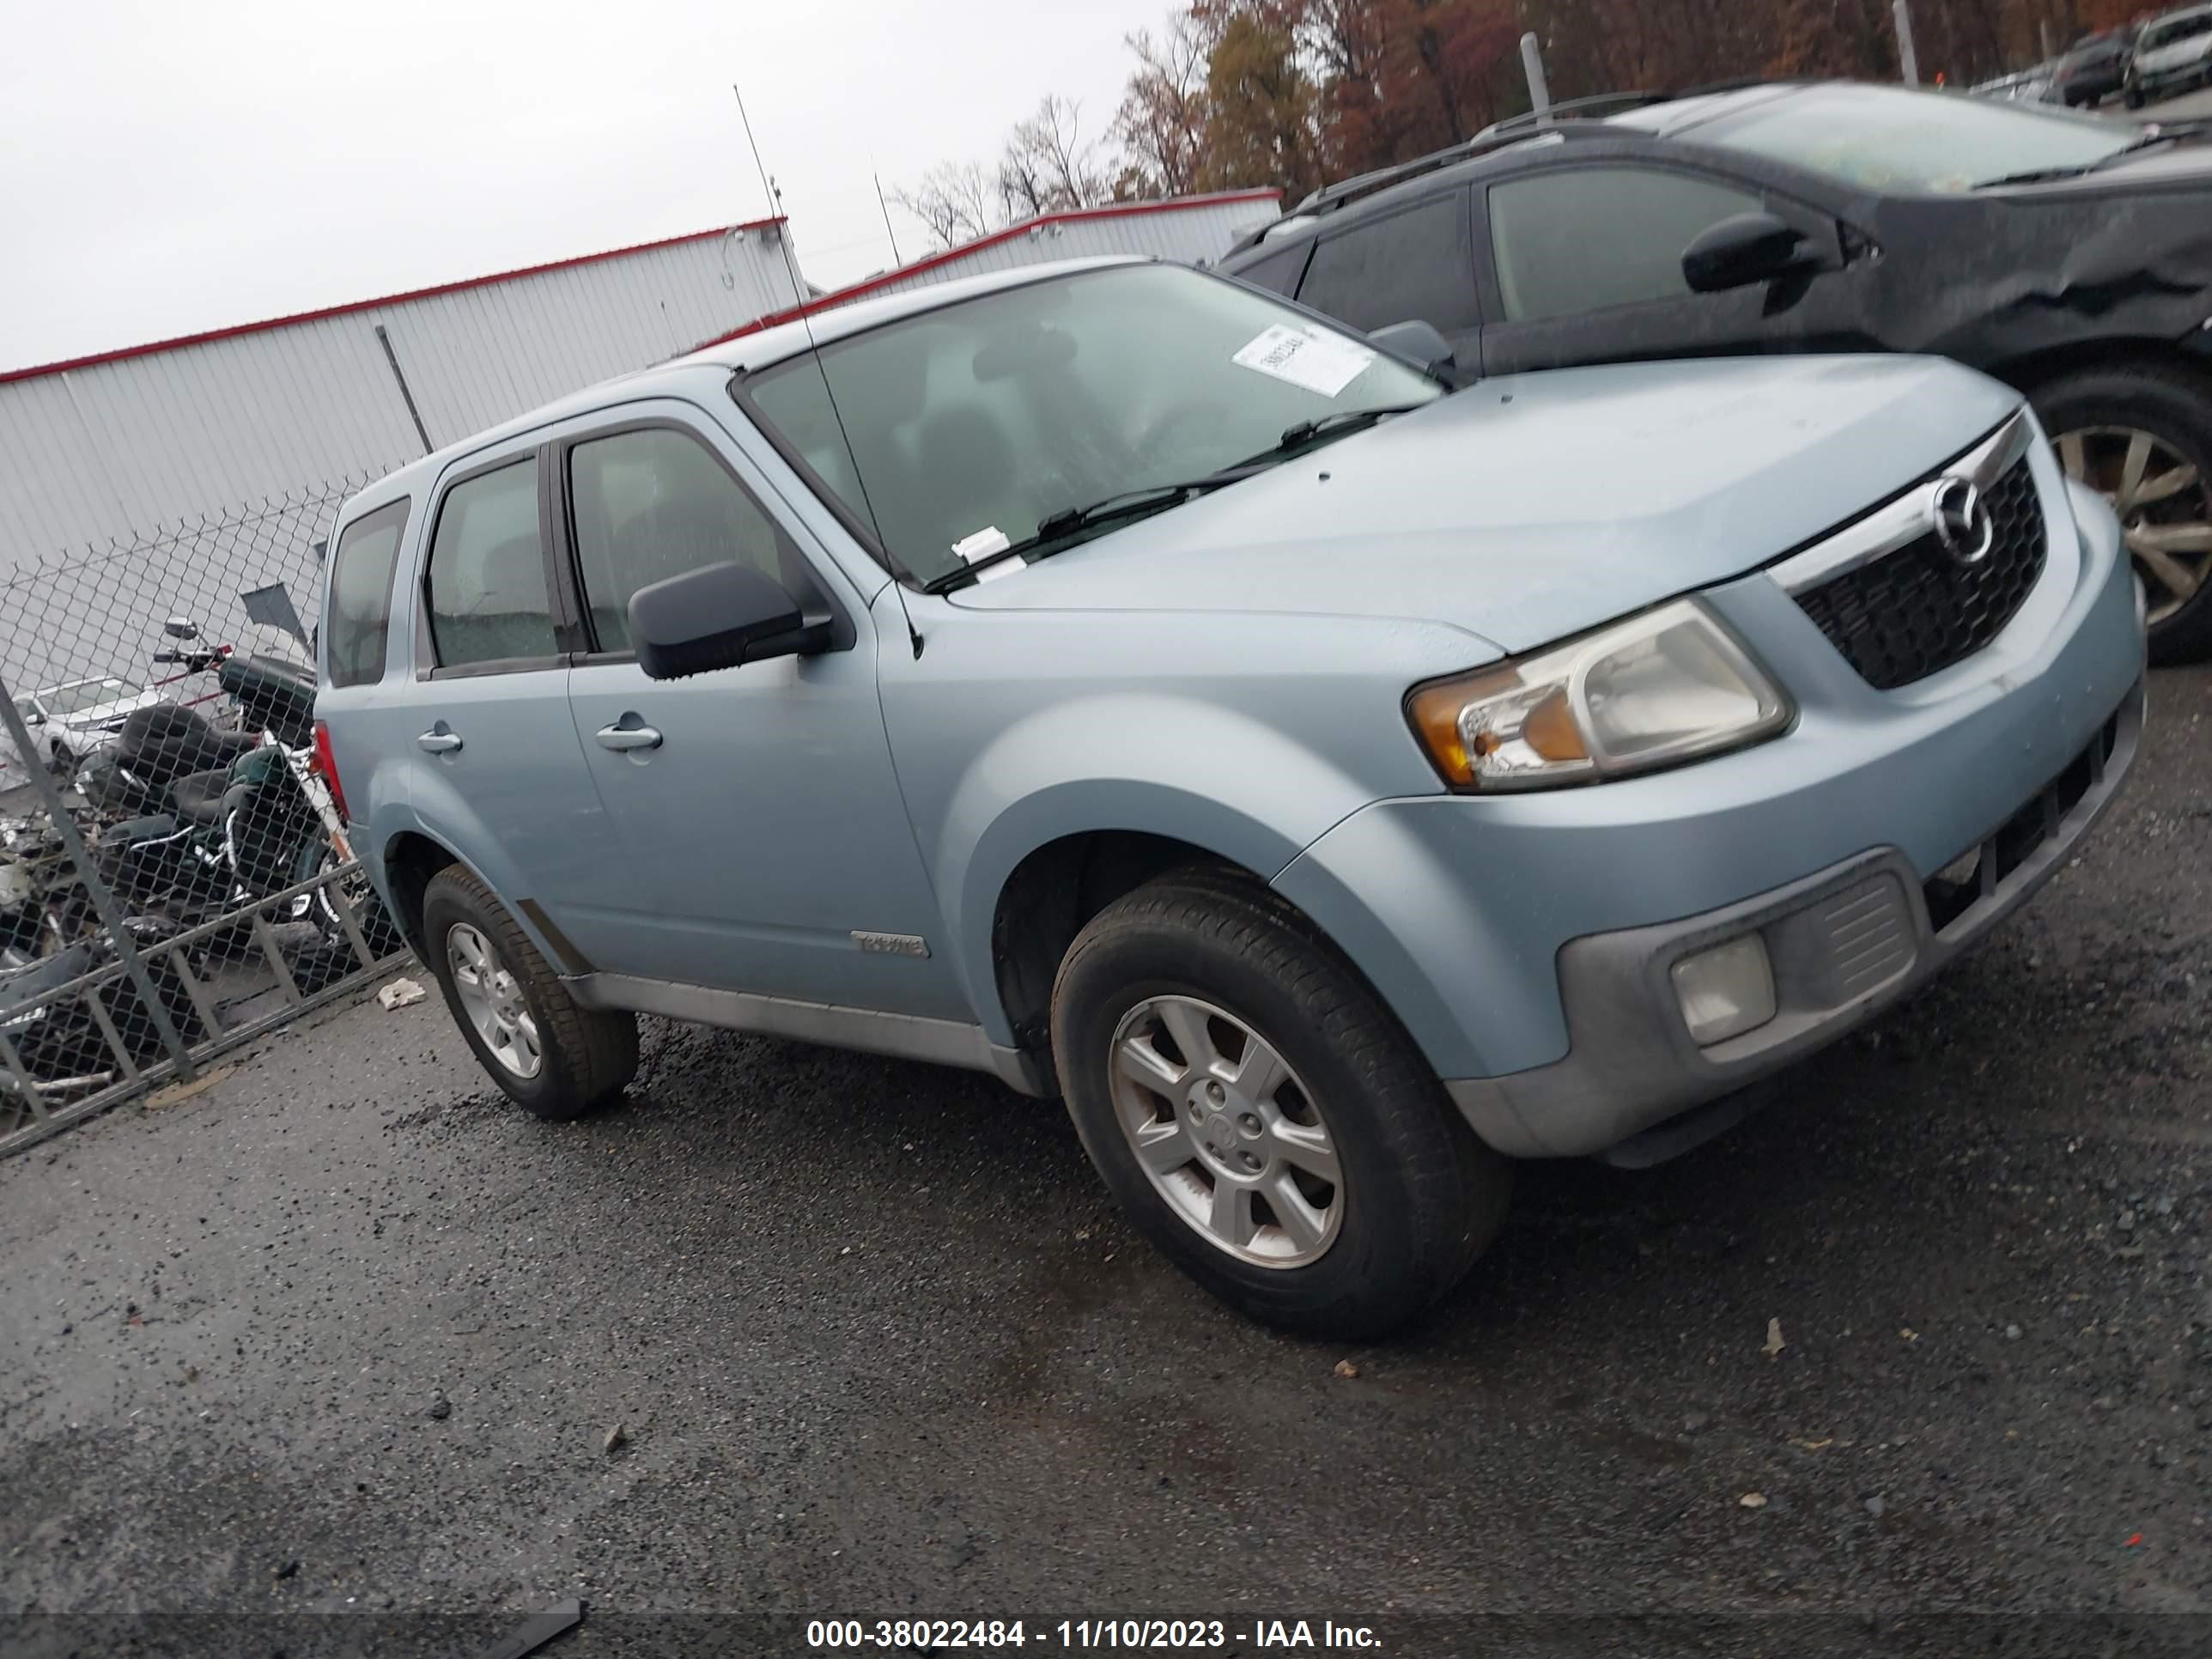
{"type": "Polygon", "coordinates": [[[2119,513],[2143,577],[2150,661],[2212,655],[2212,380],[2159,363],[2035,389],[2059,465],[2119,513]]]}

